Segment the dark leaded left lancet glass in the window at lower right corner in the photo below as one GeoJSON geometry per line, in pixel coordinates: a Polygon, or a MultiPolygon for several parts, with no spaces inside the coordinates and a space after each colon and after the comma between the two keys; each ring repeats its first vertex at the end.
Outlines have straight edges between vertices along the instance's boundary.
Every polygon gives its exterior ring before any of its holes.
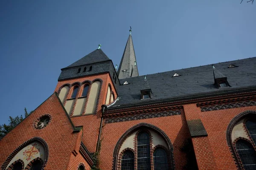
{"type": "Polygon", "coordinates": [[[236,142],[236,150],[245,170],[256,170],[256,154],[253,146],[244,140],[236,142]]]}

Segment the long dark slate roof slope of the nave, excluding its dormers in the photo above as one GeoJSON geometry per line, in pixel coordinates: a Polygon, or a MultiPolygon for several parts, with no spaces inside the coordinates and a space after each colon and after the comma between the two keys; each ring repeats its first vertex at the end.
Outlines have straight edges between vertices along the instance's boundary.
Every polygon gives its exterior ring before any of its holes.
{"type": "Polygon", "coordinates": [[[185,68],[146,75],[152,91],[151,99],[140,99],[144,76],[120,79],[118,97],[121,98],[111,107],[256,87],[256,57],[221,62],[214,64],[214,66],[222,75],[227,77],[227,82],[231,87],[217,88],[214,85],[212,65],[185,68]],[[238,67],[228,68],[230,64],[238,67]],[[175,73],[181,76],[172,77],[175,73]],[[122,85],[125,81],[129,84],[122,85]]]}

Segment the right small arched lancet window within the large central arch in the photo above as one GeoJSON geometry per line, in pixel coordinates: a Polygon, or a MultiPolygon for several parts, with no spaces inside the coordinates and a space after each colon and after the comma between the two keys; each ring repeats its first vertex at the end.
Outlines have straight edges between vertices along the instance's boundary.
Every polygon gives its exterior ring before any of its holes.
{"type": "Polygon", "coordinates": [[[168,170],[166,151],[158,148],[153,154],[154,170],[168,170]]]}

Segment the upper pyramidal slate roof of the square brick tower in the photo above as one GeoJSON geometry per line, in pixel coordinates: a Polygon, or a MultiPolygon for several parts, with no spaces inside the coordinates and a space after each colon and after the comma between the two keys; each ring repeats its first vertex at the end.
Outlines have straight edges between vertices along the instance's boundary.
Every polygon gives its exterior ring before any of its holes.
{"type": "Polygon", "coordinates": [[[108,60],[110,60],[108,56],[99,48],[65,68],[71,68],[71,67],[76,67],[80,65],[87,65],[87,64],[92,64],[96,62],[108,61],[108,60]]]}

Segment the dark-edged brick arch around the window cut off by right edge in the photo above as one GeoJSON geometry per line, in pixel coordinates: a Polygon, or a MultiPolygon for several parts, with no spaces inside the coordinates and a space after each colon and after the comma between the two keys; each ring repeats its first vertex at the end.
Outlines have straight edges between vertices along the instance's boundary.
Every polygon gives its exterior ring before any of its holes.
{"type": "Polygon", "coordinates": [[[231,154],[234,158],[235,164],[238,168],[238,170],[243,170],[243,166],[241,164],[239,155],[236,151],[236,147],[234,146],[233,142],[232,142],[232,138],[231,138],[231,133],[232,130],[234,128],[234,126],[236,125],[237,122],[239,122],[241,119],[243,119],[245,116],[250,116],[250,115],[256,115],[256,111],[244,111],[242,113],[239,113],[238,115],[236,115],[228,124],[227,126],[227,131],[226,131],[226,139],[227,139],[227,146],[230,148],[231,150],[231,154]]]}

